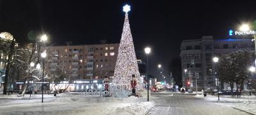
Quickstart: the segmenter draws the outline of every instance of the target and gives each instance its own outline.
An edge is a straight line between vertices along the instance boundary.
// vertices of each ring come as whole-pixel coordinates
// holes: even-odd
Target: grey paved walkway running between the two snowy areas
[[[156,102],[155,107],[148,112],[148,115],[244,115],[243,111],[238,111],[225,104],[209,102],[194,95],[184,93],[152,93],[152,100]]]

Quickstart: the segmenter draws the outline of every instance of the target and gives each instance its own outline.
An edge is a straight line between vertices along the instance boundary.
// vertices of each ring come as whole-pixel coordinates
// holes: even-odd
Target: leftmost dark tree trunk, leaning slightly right
[[[15,46],[15,39],[13,38],[12,44],[10,45],[10,52],[8,54],[8,60],[7,60],[6,70],[5,70],[3,95],[7,95],[8,77],[9,77],[9,70],[10,70],[10,67],[11,67],[10,61],[11,61],[12,56],[13,56],[14,46]]]

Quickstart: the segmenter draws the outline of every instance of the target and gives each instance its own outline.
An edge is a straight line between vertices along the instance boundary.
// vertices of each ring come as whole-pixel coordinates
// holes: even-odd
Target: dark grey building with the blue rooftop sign
[[[254,50],[251,39],[220,39],[212,36],[203,36],[201,39],[183,40],[180,47],[182,64],[182,84],[184,88],[195,91],[196,77],[198,90],[216,89],[217,79],[212,57],[236,50]]]

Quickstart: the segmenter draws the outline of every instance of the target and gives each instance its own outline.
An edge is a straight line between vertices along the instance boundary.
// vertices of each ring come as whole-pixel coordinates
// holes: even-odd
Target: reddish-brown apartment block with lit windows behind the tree
[[[113,77],[119,43],[99,45],[65,45],[47,48],[45,70],[65,73],[67,81]]]

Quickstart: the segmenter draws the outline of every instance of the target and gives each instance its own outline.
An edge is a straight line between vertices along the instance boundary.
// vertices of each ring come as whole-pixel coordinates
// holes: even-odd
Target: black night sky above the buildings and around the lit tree
[[[119,43],[124,24],[122,6],[131,5],[129,20],[138,59],[152,47],[150,73],[157,64],[168,65],[179,57],[182,40],[214,36],[227,38],[229,29],[256,19],[256,1],[0,1],[0,31],[24,43],[29,31],[49,34],[51,43],[95,44],[106,39]]]

